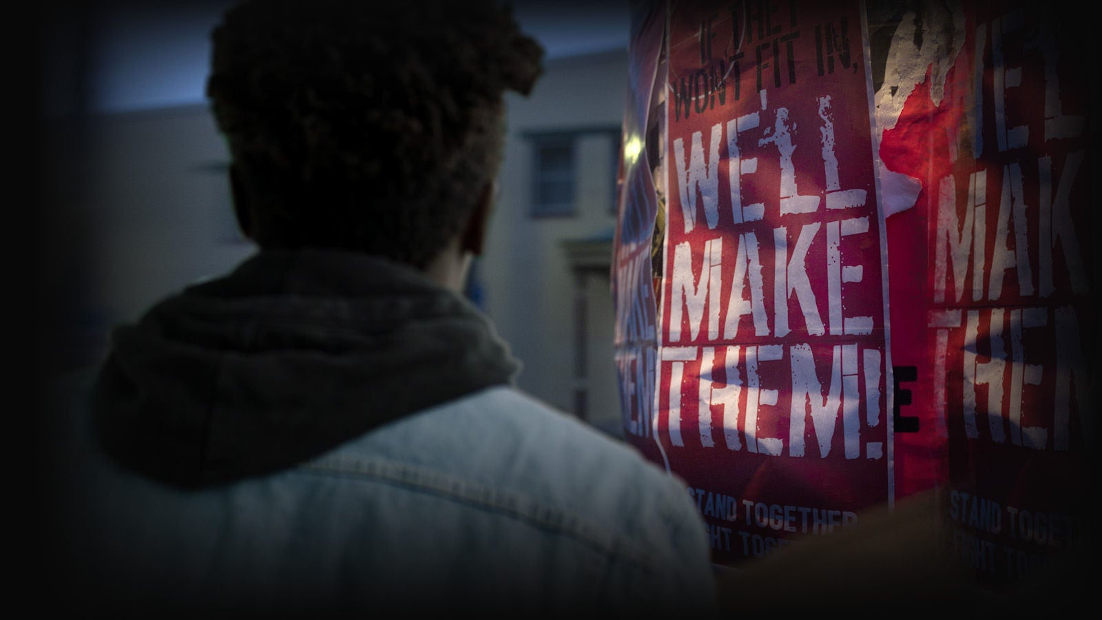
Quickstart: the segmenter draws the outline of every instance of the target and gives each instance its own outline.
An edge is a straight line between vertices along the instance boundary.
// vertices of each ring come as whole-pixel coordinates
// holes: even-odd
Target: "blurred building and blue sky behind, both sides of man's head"
[[[25,52],[37,63],[47,373],[95,364],[111,327],[256,250],[237,229],[203,94],[208,35],[230,3],[41,10]],[[507,100],[500,199],[468,295],[522,362],[520,387],[619,436],[609,263],[630,11],[627,0],[512,4],[545,47],[545,73]]]

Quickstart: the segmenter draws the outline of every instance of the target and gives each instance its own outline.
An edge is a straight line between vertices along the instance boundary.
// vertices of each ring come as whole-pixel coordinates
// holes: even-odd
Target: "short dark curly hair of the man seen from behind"
[[[497,174],[504,93],[528,95],[543,57],[494,0],[245,0],[212,40],[252,239],[419,268]]]

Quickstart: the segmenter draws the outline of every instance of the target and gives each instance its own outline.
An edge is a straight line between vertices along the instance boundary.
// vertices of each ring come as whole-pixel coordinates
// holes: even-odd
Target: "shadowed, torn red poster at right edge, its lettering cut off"
[[[904,449],[941,459],[905,480],[947,481],[961,560],[1005,585],[1093,537],[1098,68],[1066,7],[916,17],[888,30],[877,100],[885,174],[920,188],[887,218],[893,357],[920,426]]]

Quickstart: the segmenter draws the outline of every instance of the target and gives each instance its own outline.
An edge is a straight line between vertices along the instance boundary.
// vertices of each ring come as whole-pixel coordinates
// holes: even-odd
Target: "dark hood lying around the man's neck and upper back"
[[[518,370],[484,314],[411,267],[261,252],[115,329],[95,425],[125,467],[206,487],[293,467]]]

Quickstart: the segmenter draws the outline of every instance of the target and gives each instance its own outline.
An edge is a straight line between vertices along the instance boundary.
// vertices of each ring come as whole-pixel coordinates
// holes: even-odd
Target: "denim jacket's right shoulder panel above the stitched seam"
[[[684,487],[638,450],[514,387],[420,411],[336,450],[447,472],[474,484],[622,523],[680,516]]]

